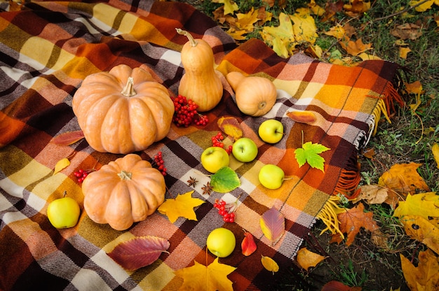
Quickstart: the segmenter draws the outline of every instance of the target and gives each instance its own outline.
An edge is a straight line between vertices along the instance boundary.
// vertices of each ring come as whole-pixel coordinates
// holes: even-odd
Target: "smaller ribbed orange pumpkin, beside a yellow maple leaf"
[[[83,180],[84,209],[91,220],[128,229],[165,200],[165,178],[139,155],[128,154],[91,172]]]

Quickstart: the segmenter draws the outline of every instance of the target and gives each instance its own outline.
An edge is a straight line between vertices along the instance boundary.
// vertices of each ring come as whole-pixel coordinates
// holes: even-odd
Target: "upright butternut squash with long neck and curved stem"
[[[213,52],[202,39],[194,39],[189,32],[177,29],[178,34],[187,36],[189,41],[182,48],[184,75],[178,86],[178,94],[191,99],[197,111],[210,111],[222,98],[221,73],[214,69]]]

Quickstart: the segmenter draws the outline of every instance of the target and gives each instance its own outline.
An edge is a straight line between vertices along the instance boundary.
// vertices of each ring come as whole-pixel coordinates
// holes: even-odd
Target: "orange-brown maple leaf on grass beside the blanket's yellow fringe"
[[[364,205],[362,203],[337,215],[340,231],[343,234],[348,234],[346,246],[350,246],[351,243],[353,243],[353,240],[358,232],[360,232],[361,227],[364,227],[370,232],[379,229],[377,222],[373,220],[372,216],[372,212],[364,212]],[[340,243],[341,241],[342,237],[340,234],[333,234],[330,242]]]

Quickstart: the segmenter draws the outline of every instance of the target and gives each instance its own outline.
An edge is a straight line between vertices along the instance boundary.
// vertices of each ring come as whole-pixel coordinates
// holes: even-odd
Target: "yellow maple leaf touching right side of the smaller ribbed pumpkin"
[[[178,194],[175,199],[166,199],[166,201],[158,207],[158,212],[167,215],[169,221],[173,223],[179,217],[197,220],[194,207],[200,206],[204,201],[198,198],[192,198],[192,193],[194,193],[194,190],[184,194]]]

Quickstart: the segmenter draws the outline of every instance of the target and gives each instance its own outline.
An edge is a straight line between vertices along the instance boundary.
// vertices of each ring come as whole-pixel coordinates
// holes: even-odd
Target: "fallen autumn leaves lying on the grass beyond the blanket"
[[[423,13],[439,5],[437,0],[410,1],[408,6],[401,7],[391,15],[385,15],[378,20],[364,20],[361,27],[353,27],[351,20],[361,17],[367,19],[365,15],[374,5],[374,1],[327,1],[319,2],[319,5],[311,0],[302,7],[295,8],[294,13],[285,13],[283,10],[288,5],[287,1],[263,0],[261,6],[251,6],[243,10],[244,2],[212,0],[212,3],[223,4],[212,11],[212,17],[237,43],[257,37],[281,57],[304,52],[316,59],[344,66],[356,66],[367,59],[380,59],[374,53],[374,44],[363,42],[358,30],[364,29],[373,21],[388,20],[391,23],[396,16],[408,19],[416,13]],[[277,15],[270,9],[273,6],[280,8]],[[343,21],[335,17],[340,14],[344,15]],[[319,30],[316,22],[327,24],[327,29]],[[433,22],[439,26],[438,13],[433,15]],[[422,23],[404,23],[391,28],[391,35],[395,38],[392,49],[398,50],[400,59],[407,59],[412,52],[410,41],[416,41],[421,37],[423,29]],[[324,43],[322,40],[327,38],[332,38],[329,48],[320,45]],[[428,106],[428,101],[426,104],[421,101],[421,95],[425,93],[422,83],[414,80],[412,83],[405,82],[402,87],[403,94],[412,97],[407,108],[410,108],[412,115],[419,116],[419,113],[425,111],[425,106]],[[435,97],[431,95],[430,98]],[[386,118],[391,122],[391,117]],[[417,142],[423,136],[435,134],[438,125],[426,128],[421,122],[420,127],[422,134]],[[429,155],[435,160],[436,165],[433,166],[439,167],[437,142],[431,144]],[[374,148],[367,149],[364,158],[370,159],[373,163]],[[374,213],[365,210],[365,206],[368,205],[386,204],[394,209],[393,217],[399,218],[407,236],[424,246],[424,250],[419,251],[417,265],[413,263],[414,257],[400,255],[407,286],[410,290],[439,290],[439,196],[431,192],[424,179],[419,176],[419,166],[421,164],[414,162],[396,163],[379,177],[377,183],[360,186],[358,196],[354,199],[348,201],[346,197],[333,197],[333,207],[326,209],[327,215],[321,217],[326,219],[327,225],[323,232],[332,233],[330,243],[344,242],[346,246],[350,246],[360,231],[367,231],[370,232],[373,243],[386,249],[386,234],[381,232],[379,223],[374,220]],[[310,267],[316,267],[323,260],[325,257],[306,248],[299,250],[297,255],[297,262],[306,271]],[[336,281],[331,281],[326,286],[327,290],[353,290],[349,289],[351,287],[355,286],[348,287]]]

